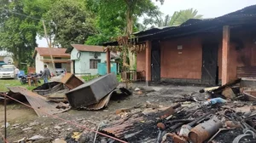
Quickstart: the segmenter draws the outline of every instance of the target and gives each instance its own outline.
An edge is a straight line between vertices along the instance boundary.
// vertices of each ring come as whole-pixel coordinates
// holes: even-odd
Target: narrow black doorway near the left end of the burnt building
[[[151,48],[151,81],[160,82],[160,42],[153,41]]]

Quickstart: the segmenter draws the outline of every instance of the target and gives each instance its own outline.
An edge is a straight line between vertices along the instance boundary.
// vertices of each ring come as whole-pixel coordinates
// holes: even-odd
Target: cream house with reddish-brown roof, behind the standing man
[[[67,49],[56,48],[36,48],[34,50],[33,59],[35,60],[36,72],[44,71],[44,65],[47,65],[50,72],[53,72],[52,60],[53,57],[55,68],[64,68],[70,72],[70,54],[65,53]]]

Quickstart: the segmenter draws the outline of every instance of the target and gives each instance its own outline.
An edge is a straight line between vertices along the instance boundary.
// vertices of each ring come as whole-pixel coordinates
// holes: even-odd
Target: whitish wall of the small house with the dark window
[[[83,74],[90,74],[90,75],[96,75],[98,73],[97,69],[90,69],[90,59],[95,59],[93,55],[90,55],[90,53],[94,52],[81,52],[81,56],[78,59],[77,49],[73,49],[71,51],[71,60],[75,60],[75,74],[77,75],[83,75]],[[101,60],[101,62],[106,61],[106,53],[101,53],[100,56],[98,56],[97,60]],[[73,68],[73,67],[72,67]]]

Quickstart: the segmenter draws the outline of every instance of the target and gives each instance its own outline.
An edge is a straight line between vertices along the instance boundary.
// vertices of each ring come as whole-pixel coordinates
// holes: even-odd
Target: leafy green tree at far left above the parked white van
[[[1,0],[0,47],[14,54],[15,61],[32,63],[32,51],[37,46],[37,26],[40,16],[27,16],[26,0]]]

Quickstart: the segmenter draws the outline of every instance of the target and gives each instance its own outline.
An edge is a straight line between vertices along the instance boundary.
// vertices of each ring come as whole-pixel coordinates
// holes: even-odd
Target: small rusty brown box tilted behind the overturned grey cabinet
[[[61,83],[64,83],[68,89],[75,89],[82,85],[82,82],[78,77],[74,76],[72,73],[66,73],[61,79]]]

